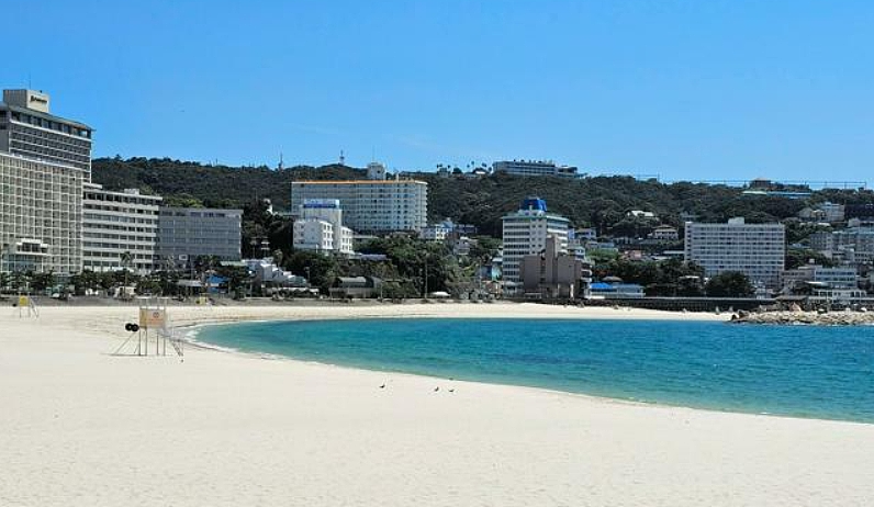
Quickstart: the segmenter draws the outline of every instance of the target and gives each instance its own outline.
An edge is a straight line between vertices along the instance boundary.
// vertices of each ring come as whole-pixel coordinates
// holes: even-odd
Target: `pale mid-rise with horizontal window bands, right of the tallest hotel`
[[[158,207],[161,198],[136,189],[123,192],[86,183],[82,269],[146,274],[156,269]],[[126,256],[130,255],[130,260]]]

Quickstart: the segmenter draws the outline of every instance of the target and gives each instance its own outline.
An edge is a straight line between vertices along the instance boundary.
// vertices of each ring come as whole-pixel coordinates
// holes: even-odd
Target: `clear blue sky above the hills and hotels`
[[[96,155],[874,183],[874,2],[5,0]]]

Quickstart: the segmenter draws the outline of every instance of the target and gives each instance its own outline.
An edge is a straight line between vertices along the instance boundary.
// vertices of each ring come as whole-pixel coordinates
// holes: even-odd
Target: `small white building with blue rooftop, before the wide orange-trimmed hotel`
[[[307,199],[294,222],[294,248],[352,254],[352,229],[343,225],[343,209],[336,199]]]

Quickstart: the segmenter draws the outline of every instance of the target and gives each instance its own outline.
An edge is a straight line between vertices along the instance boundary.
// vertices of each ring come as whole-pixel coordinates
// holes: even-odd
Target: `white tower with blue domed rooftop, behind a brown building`
[[[502,218],[504,238],[504,281],[522,282],[519,266],[525,256],[540,254],[546,249],[547,237],[554,236],[559,251],[568,251],[568,226],[563,216],[547,213],[546,201],[528,198],[522,207]]]

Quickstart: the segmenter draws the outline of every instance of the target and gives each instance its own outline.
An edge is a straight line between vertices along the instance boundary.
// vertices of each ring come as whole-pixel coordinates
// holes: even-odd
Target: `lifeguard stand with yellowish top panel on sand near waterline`
[[[149,342],[154,343],[154,356],[167,356],[168,341],[178,356],[183,356],[183,341],[176,336],[176,329],[170,324],[167,301],[167,297],[144,300],[139,305],[139,323],[128,323],[125,326],[131,336],[119,346],[113,356],[148,356]],[[136,339],[133,341],[131,352],[125,353],[127,343],[134,338]]]

